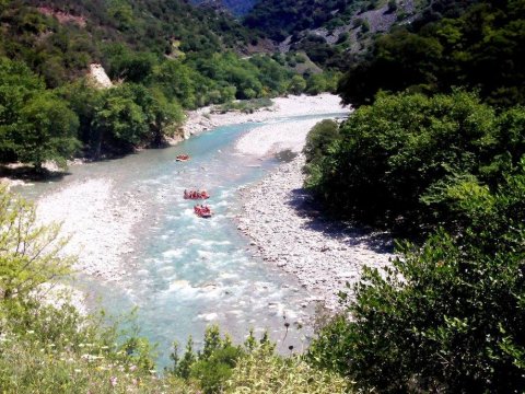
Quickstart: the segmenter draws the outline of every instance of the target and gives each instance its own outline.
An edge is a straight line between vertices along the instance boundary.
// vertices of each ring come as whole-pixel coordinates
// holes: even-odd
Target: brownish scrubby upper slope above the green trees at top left
[[[237,22],[184,0],[19,0],[0,5],[0,55],[25,61],[57,86],[128,48],[155,56],[244,51]]]

